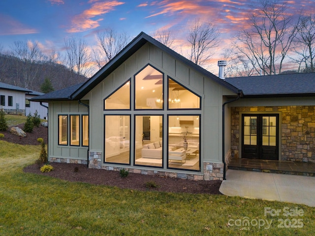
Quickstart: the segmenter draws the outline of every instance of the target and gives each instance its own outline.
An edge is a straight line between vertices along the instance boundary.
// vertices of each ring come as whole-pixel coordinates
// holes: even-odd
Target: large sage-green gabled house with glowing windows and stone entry
[[[142,32],[84,84],[32,101],[49,103],[51,162],[223,179],[233,156],[313,162],[309,76],[307,92],[277,90],[277,76],[225,81]]]

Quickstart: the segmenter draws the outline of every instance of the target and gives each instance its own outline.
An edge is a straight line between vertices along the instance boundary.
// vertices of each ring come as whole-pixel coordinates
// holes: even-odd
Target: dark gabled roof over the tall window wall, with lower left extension
[[[106,76],[112,73],[116,68],[118,68],[126,59],[128,59],[132,54],[134,54],[137,50],[139,50],[144,44],[147,42],[152,43],[160,50],[167,52],[172,57],[177,60],[180,60],[182,63],[188,65],[192,69],[198,71],[203,74],[205,77],[211,78],[218,84],[222,85],[226,89],[231,90],[237,94],[239,90],[234,86],[226,83],[221,80],[219,77],[210,73],[209,71],[203,69],[202,67],[196,65],[192,61],[184,58],[180,54],[161,44],[151,36],[147,35],[144,32],[141,32],[137,37],[135,37],[119,54],[117,54],[113,59],[111,59],[104,67],[102,67],[94,76],[92,76],[88,81],[86,81],[83,85],[76,87],[69,87],[66,89],[62,89],[62,91],[55,91],[52,93],[45,94],[40,97],[36,97],[33,100],[78,100],[81,99],[85,94],[87,94],[91,89],[93,89],[97,84],[99,84]]]

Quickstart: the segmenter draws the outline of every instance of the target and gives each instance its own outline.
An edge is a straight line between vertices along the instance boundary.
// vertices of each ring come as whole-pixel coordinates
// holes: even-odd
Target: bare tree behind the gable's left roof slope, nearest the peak
[[[96,36],[98,47],[93,50],[93,54],[94,61],[99,69],[122,51],[130,39],[127,33],[118,33],[112,28],[98,31]]]

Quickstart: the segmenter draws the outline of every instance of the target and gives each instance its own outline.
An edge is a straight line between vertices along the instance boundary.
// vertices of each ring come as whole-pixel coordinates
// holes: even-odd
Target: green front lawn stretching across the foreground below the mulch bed
[[[33,163],[39,152],[40,146],[0,141],[1,236],[295,236],[315,232],[315,207],[223,195],[139,192],[24,173],[23,167]],[[264,207],[282,212],[265,216]],[[303,216],[284,216],[284,207],[303,211]],[[238,226],[246,220],[250,226]]]

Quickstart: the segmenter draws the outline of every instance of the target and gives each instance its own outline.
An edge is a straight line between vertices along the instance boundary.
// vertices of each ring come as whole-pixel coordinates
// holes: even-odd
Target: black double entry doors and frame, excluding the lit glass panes
[[[276,146],[263,146],[263,123],[262,117],[271,116],[276,117]],[[243,113],[241,114],[241,150],[242,158],[252,158],[252,159],[270,159],[279,160],[279,113]],[[257,117],[257,129],[256,129],[256,145],[244,145],[244,117]],[[250,127],[251,129],[251,127]]]

